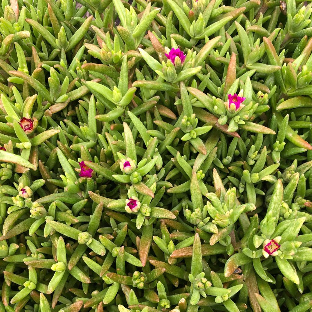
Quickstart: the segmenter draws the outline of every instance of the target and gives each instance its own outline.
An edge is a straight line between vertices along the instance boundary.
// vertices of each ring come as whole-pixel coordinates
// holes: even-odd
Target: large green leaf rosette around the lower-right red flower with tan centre
[[[264,263],[271,266],[272,261],[269,260],[272,257],[287,279],[295,284],[300,283],[294,263],[306,261],[304,259],[309,259],[311,253],[310,248],[301,246],[305,235],[298,236],[305,218],[298,218],[294,214],[289,220],[279,222],[282,201],[283,187],[278,180],[266,216],[260,222],[260,232],[257,231],[258,216],[255,215],[245,236],[238,243],[242,253],[229,258],[225,276],[232,274],[238,266],[252,262],[257,275],[267,282],[275,283],[274,277],[264,269]]]

